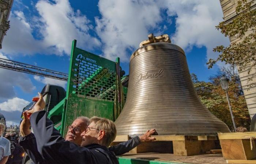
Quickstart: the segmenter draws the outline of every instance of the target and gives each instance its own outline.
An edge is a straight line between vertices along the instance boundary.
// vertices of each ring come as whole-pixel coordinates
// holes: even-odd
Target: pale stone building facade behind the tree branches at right
[[[238,0],[220,0],[221,7],[223,11],[223,19],[225,24],[229,24],[232,20],[238,15],[236,13],[236,6]],[[248,0],[253,1],[251,9],[256,9],[256,0]],[[247,32],[246,35],[250,33]],[[230,43],[239,43],[241,42],[240,38],[236,36],[229,38]],[[248,75],[248,69],[244,69],[243,71],[239,72],[239,77],[241,80],[242,88],[244,90],[245,100],[247,104],[247,108],[249,110],[249,114],[251,118],[256,113],[256,68],[253,67],[251,73]],[[248,78],[252,78],[252,81],[249,81]],[[250,89],[248,90],[248,85],[251,85]]]

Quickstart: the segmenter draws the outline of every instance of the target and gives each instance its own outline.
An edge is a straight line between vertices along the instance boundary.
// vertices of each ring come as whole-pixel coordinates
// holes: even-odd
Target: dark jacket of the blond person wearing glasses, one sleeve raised
[[[35,160],[36,163],[118,164],[115,154],[105,146],[91,144],[80,147],[65,141],[59,131],[53,127],[53,122],[46,117],[45,111],[33,113],[30,122],[36,138],[38,156],[41,156],[41,159]]]

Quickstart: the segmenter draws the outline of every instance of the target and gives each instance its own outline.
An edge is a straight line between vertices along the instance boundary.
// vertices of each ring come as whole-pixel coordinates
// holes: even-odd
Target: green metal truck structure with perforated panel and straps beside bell
[[[55,128],[65,136],[65,127],[79,116],[98,116],[116,120],[123,108],[127,88],[120,77],[120,61],[94,55],[72,43],[66,97],[48,113],[48,118],[62,116],[54,121]],[[124,94],[123,94],[124,93]]]

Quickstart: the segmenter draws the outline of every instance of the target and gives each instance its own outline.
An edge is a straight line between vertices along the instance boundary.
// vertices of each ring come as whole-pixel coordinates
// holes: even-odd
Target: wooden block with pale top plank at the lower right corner
[[[256,132],[218,133],[222,154],[227,160],[256,158]]]

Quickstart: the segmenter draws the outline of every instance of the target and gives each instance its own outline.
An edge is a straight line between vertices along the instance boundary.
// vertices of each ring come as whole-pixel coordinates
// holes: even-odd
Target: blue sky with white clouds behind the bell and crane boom
[[[129,72],[129,57],[147,35],[168,34],[185,50],[190,73],[208,81],[222,63],[208,69],[218,54],[215,46],[228,45],[215,26],[222,21],[219,0],[15,0],[11,28],[3,40],[1,58],[68,73],[71,43],[110,60],[120,57]],[[19,123],[24,106],[55,79],[0,69],[0,113],[7,125]]]

